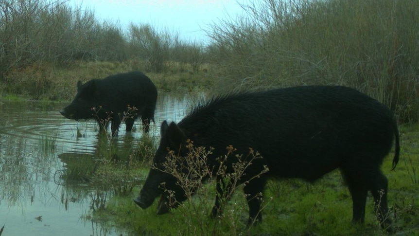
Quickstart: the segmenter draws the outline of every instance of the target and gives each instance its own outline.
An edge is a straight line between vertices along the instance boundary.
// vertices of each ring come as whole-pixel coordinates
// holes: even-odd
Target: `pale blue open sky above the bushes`
[[[127,26],[130,22],[150,23],[158,29],[178,32],[184,40],[207,41],[202,29],[220,19],[243,13],[238,2],[246,0],[70,0],[88,7],[98,18]]]

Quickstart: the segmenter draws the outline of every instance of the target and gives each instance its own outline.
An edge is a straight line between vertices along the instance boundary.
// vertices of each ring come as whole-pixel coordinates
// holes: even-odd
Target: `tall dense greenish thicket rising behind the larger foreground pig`
[[[214,23],[209,54],[220,87],[309,84],[357,88],[419,120],[419,2],[262,0]]]

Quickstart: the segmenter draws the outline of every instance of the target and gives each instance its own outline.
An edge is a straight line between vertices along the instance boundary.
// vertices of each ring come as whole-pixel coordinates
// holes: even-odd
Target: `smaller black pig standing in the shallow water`
[[[76,97],[60,113],[73,120],[96,119],[100,131],[105,131],[111,121],[113,136],[118,135],[122,120],[126,131],[131,131],[134,120],[141,116],[144,132],[148,132],[156,101],[156,86],[145,74],[120,73],[85,84],[78,81]]]

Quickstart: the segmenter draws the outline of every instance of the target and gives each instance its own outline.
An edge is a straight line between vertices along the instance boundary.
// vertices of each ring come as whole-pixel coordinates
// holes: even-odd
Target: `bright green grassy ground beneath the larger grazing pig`
[[[389,180],[388,204],[397,235],[418,235],[419,127],[403,126],[400,133],[401,162],[390,171],[389,160],[393,155],[390,153],[382,170]],[[141,182],[147,172],[147,166],[139,165],[131,169],[130,175],[131,178],[140,177]],[[297,179],[270,180],[263,193],[263,222],[250,229],[245,227],[248,207],[240,187],[228,202],[224,216],[218,219],[210,218],[215,199],[212,180],[191,200],[166,215],[156,215],[157,200],[146,210],[135,205],[132,198],[139,190],[140,185],[128,196],[111,197],[93,218],[108,217],[112,224],[132,235],[387,235],[375,217],[370,195],[365,224],[351,223],[352,201],[339,171],[333,171],[314,184]]]

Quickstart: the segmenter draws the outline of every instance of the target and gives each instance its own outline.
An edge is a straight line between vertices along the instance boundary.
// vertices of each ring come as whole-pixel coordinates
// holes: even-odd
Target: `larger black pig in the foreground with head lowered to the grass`
[[[157,214],[169,210],[168,193],[178,202],[186,200],[185,191],[173,175],[165,173],[168,149],[175,156],[186,156],[187,140],[194,146],[213,147],[208,164],[216,166],[226,147],[246,156],[249,147],[260,153],[241,179],[249,205],[249,223],[261,221],[261,201],[266,180],[271,177],[300,178],[309,182],[339,168],[353,201],[353,221],[363,222],[367,192],[375,200],[377,217],[389,227],[387,179],[380,170],[395,139],[393,168],[399,161],[399,131],[393,113],[383,104],[351,88],[341,86],[302,86],[271,91],[218,97],[195,108],[177,125],[164,121],[161,140],[148,177],[134,201],[149,207],[161,195]],[[232,162],[227,159],[227,171]],[[269,171],[260,178],[249,177]],[[217,169],[215,167],[214,169]],[[223,178],[217,176],[217,195],[211,215],[221,214]],[[164,183],[164,187],[162,187]],[[164,191],[172,190],[172,191]],[[224,189],[224,190],[223,190]]]

